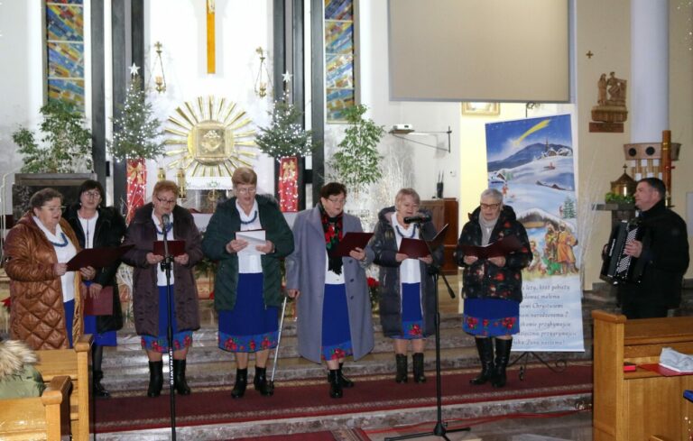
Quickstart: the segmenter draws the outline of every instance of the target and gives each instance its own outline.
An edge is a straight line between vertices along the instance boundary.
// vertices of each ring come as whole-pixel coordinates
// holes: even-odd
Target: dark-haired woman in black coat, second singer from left
[[[81,248],[101,248],[118,246],[125,235],[125,219],[114,207],[105,206],[104,188],[97,180],[86,180],[79,186],[79,201],[65,211],[64,217],[77,235]],[[115,331],[123,327],[123,312],[118,296],[115,272],[120,262],[113,262],[106,268],[97,269],[94,280],[87,281],[88,296],[97,299],[101,290],[108,288],[112,297],[113,314],[110,316],[84,315],[84,333],[94,335],[91,351],[94,395],[109,397],[101,379],[101,361],[104,346],[115,346]],[[106,292],[106,291],[105,291]]]

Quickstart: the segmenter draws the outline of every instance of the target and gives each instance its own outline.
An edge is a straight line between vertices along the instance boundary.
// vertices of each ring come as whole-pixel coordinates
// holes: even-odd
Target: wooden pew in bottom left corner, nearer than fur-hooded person
[[[56,376],[41,397],[0,400],[0,439],[69,439],[70,386],[68,376]]]

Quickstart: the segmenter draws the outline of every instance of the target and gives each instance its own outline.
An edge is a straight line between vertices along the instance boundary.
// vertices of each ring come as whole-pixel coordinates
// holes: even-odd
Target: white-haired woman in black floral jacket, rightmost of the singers
[[[506,255],[480,259],[465,254],[463,249],[463,245],[485,246],[511,235],[519,240],[520,246]],[[513,335],[520,332],[522,268],[532,259],[527,232],[517,221],[513,208],[503,205],[503,193],[494,188],[481,193],[481,204],[462,228],[455,255],[457,264],[463,268],[462,326],[476,337],[481,360],[481,373],[470,382],[491,381],[494,387],[502,388]]]

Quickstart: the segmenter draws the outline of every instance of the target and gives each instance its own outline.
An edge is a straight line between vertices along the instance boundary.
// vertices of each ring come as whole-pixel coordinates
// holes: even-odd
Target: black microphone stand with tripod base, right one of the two
[[[421,229],[421,238],[423,238],[423,226],[421,225],[422,222],[421,220],[417,221],[417,224],[420,226]],[[429,250],[429,254],[431,257],[433,257],[433,250],[430,248],[430,242],[427,241],[426,239],[422,239],[423,243],[426,243],[426,248]],[[442,262],[441,262],[442,264]],[[443,271],[440,270],[440,265],[436,264],[435,259],[433,262],[430,264],[429,271],[433,275],[433,286],[435,287],[435,292],[436,292],[436,316],[435,316],[435,330],[436,330],[436,335],[435,335],[435,342],[436,342],[436,426],[433,427],[433,430],[431,432],[422,432],[418,434],[412,434],[412,435],[403,435],[403,436],[394,436],[394,437],[386,437],[385,441],[394,441],[395,439],[410,439],[410,438],[419,438],[422,436],[440,436],[443,439],[446,439],[450,441],[450,438],[446,436],[447,433],[453,433],[453,432],[463,432],[463,431],[469,431],[471,430],[471,427],[458,427],[455,429],[448,430],[448,423],[443,421],[443,403],[442,403],[442,390],[440,387],[440,308],[439,308],[439,293],[438,293],[438,278],[442,277],[443,281],[445,282],[445,286],[448,287],[448,294],[450,295],[450,299],[455,299],[455,291],[452,290],[450,287],[450,284],[448,282],[448,278],[445,277],[445,274]],[[421,293],[423,296],[424,294]]]

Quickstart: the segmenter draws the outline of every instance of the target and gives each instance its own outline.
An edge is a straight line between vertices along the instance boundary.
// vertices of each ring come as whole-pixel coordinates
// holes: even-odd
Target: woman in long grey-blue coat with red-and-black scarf
[[[374,345],[365,280],[373,253],[361,248],[348,257],[335,253],[345,234],[363,231],[358,217],[344,213],[346,201],[344,185],[320,188],[319,204],[296,216],[296,251],[286,260],[287,294],[298,302],[299,353],[327,363],[331,398],[342,398],[343,388],[354,386],[342,373],[345,357],[358,360]]]

